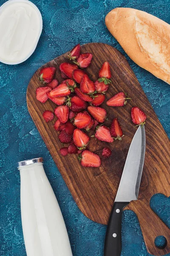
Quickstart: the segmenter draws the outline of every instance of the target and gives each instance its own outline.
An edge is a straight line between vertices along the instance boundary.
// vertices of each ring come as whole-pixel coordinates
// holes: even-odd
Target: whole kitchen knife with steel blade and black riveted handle
[[[137,200],[145,154],[144,125],[139,126],[127,154],[119,188],[108,222],[104,256],[120,256],[122,250],[121,226],[123,208]]]

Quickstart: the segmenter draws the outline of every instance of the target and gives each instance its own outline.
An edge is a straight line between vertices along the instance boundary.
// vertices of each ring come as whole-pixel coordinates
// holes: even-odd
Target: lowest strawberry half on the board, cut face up
[[[89,150],[84,150],[79,159],[81,165],[85,167],[99,167],[101,165],[100,157]]]

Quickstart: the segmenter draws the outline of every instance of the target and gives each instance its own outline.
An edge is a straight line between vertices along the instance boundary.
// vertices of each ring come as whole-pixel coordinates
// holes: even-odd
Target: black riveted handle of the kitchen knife
[[[104,256],[120,256],[122,250],[122,212],[129,202],[115,202],[105,236]]]

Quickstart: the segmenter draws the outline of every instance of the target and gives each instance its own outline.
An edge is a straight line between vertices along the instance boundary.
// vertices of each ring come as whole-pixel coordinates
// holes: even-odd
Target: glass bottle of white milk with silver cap
[[[26,253],[27,256],[72,256],[64,219],[42,162],[40,157],[18,163]]]

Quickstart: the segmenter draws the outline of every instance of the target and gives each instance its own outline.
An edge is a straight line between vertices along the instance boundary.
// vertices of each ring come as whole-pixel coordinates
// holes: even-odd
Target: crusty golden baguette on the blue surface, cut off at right
[[[131,8],[113,9],[105,24],[127,55],[140,67],[170,84],[170,25]]]

